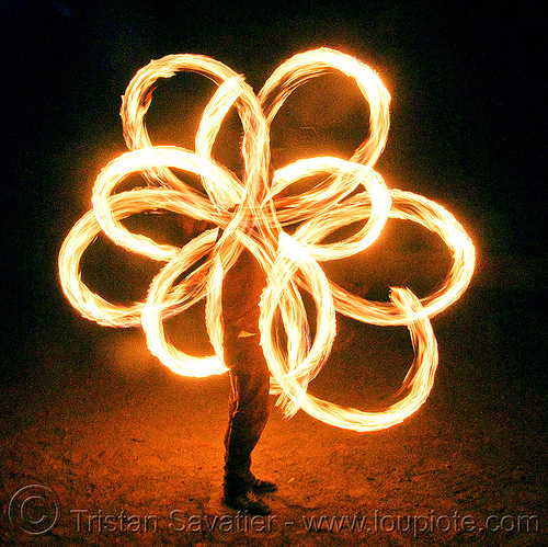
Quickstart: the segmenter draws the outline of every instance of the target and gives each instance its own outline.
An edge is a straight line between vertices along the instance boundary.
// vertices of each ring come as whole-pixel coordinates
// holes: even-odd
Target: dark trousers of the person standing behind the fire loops
[[[230,407],[225,436],[225,471],[244,475],[269,419],[270,372],[259,344],[260,337],[226,333],[225,364],[230,374]]]

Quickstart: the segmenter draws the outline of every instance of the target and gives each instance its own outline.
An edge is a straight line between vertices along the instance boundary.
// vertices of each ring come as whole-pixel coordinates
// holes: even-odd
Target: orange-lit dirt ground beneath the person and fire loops
[[[534,297],[472,287],[436,318],[433,392],[392,429],[358,434],[304,412],[286,420],[273,398],[253,467],[279,490],[270,520],[255,521],[221,501],[228,378],[172,374],[138,331],[59,323],[27,349],[28,374],[3,385],[0,539],[546,545],[546,380],[539,347],[529,345],[541,328]],[[501,307],[509,301],[518,329]],[[381,404],[409,366],[409,346],[404,328],[340,319],[310,390],[362,409]],[[31,485],[50,490],[19,492]],[[41,531],[55,509],[49,532],[21,529],[36,521],[31,531]]]

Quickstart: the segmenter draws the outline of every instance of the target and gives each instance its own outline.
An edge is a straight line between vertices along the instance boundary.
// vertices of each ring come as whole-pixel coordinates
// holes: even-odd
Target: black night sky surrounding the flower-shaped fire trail
[[[475,311],[473,338],[484,344],[472,354],[498,355],[486,360],[496,369],[484,377],[544,408],[547,13],[540,1],[282,9],[4,0],[2,389],[24,389],[52,366],[44,355],[55,347],[82,355],[105,335],[64,298],[57,254],[90,207],[100,169],[124,151],[119,96],[134,73],[167,54],[197,53],[259,91],[293,54],[329,46],[376,68],[392,95],[377,163],[388,185],[446,205],[477,243],[465,301]]]

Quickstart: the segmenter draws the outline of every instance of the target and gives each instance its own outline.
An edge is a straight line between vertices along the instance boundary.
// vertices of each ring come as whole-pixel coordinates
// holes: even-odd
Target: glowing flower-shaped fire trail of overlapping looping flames
[[[153,146],[145,125],[155,82],[178,71],[203,75],[217,84],[195,137],[195,151]],[[270,125],[289,94],[310,78],[340,71],[355,80],[369,104],[369,136],[353,157],[319,157],[295,161],[269,176]],[[186,376],[226,372],[222,364],[221,286],[224,272],[243,248],[267,276],[261,299],[261,345],[272,373],[271,392],[286,415],[299,408],[339,428],[373,431],[389,428],[415,412],[426,400],[437,367],[437,344],[430,318],[455,303],[467,288],[475,267],[475,249],[454,216],[411,192],[388,190],[373,169],[388,135],[390,95],[366,65],[340,52],[320,48],[295,55],[281,65],[255,95],[243,78],[224,64],[199,55],[170,55],[152,60],[130,81],[122,103],[124,136],[130,151],[111,161],[96,179],[93,209],[71,229],[59,253],[64,292],[82,316],[100,324],[142,324],[147,343],[164,365]],[[241,180],[212,159],[212,149],[229,109],[235,105],[243,128]],[[174,169],[198,175],[206,193],[175,175]],[[115,193],[129,174],[142,173],[148,187]],[[300,195],[283,195],[295,182],[322,175],[321,183]],[[121,220],[141,212],[169,210],[217,228],[182,248],[159,244],[128,231]],[[388,218],[411,220],[439,236],[453,265],[434,294],[419,299],[408,288],[391,288],[390,303],[350,294],[327,278],[322,261],[351,257],[370,246]],[[362,221],[353,236],[322,242],[339,228]],[[292,236],[284,227],[298,224]],[[218,237],[219,228],[222,235]],[[114,305],[90,290],[80,276],[80,260],[103,231],[114,243],[165,265],[153,278],[146,301]],[[279,233],[279,236],[277,236]],[[192,270],[198,260],[203,263]],[[191,270],[183,281],[181,274]],[[299,289],[317,308],[316,334]],[[183,353],[165,338],[163,320],[206,299],[206,327],[215,355]],[[365,323],[407,326],[414,360],[399,394],[402,398],[380,412],[346,409],[307,392],[326,363],[335,337],[335,311]],[[276,335],[281,318],[286,340]],[[284,346],[282,346],[284,345]]]

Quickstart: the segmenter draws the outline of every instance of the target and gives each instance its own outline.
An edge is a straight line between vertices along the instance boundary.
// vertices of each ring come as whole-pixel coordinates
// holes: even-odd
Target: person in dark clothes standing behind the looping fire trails
[[[180,219],[183,236],[192,239],[207,223]],[[222,231],[219,230],[218,239]],[[269,419],[270,371],[260,345],[261,294],[266,276],[248,249],[224,273],[224,362],[229,371],[229,420],[225,435],[225,503],[238,511],[265,515],[270,508],[262,494],[275,492],[274,482],[251,472],[251,453]]]

